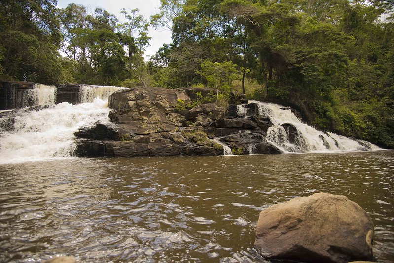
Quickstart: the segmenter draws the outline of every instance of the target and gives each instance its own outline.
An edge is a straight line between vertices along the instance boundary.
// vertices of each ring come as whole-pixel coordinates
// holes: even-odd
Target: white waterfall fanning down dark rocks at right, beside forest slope
[[[268,128],[266,140],[284,152],[337,152],[380,149],[366,141],[318,131],[301,122],[290,109],[286,109],[281,105],[260,101],[249,101],[249,103],[256,103],[259,114],[271,119],[274,126]],[[293,127],[292,129],[295,127],[296,129],[292,133],[293,138],[291,139],[289,127]]]

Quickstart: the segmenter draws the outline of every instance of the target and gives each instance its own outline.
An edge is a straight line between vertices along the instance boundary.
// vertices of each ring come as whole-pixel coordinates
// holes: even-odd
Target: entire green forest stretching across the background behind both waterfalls
[[[1,1],[1,80],[237,91],[394,148],[392,0],[161,0],[121,20],[56,5]],[[173,41],[146,61],[149,26]]]

